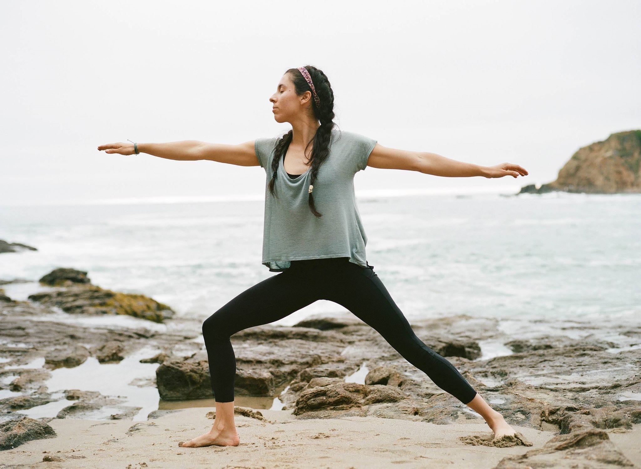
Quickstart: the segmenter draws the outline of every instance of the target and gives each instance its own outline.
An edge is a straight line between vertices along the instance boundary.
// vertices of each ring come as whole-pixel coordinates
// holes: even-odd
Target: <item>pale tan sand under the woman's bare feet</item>
[[[482,420],[436,425],[358,416],[296,419],[288,411],[261,410],[265,420],[236,416],[238,447],[178,447],[178,441],[210,429],[207,413],[206,407],[180,409],[133,425],[54,419],[49,424],[56,438],[4,451],[0,467],[490,468],[506,456],[541,448],[554,436],[518,427],[532,447],[472,446],[459,437],[489,436]],[[626,438],[633,435],[641,433],[629,432]],[[47,456],[61,460],[42,463]]]

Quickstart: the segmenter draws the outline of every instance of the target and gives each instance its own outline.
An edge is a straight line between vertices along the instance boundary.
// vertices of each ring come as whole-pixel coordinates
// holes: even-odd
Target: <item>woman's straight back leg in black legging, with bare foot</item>
[[[430,349],[414,333],[372,266],[348,263],[331,277],[327,299],[351,311],[376,329],[404,359],[427,374],[439,388],[478,412],[498,438],[513,434],[503,416],[476,393],[456,367]]]

